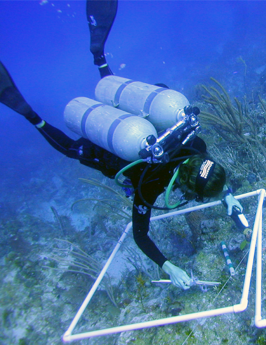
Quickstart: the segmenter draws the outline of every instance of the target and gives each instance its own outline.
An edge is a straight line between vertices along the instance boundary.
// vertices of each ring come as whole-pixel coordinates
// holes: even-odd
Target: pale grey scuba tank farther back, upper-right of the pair
[[[184,107],[189,105],[188,99],[178,91],[117,76],[107,76],[98,82],[95,99],[147,117],[157,132],[178,122],[184,116]]]

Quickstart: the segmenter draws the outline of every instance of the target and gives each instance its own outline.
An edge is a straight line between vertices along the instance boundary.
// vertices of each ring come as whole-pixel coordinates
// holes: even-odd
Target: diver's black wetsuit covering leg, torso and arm
[[[47,123],[38,130],[55,149],[67,157],[78,159],[80,163],[101,171],[109,178],[114,178],[119,170],[130,163],[93,144],[88,139],[80,138],[73,140],[59,129]],[[199,137],[195,137],[184,146],[175,158],[191,155],[190,147],[201,153],[206,152],[205,142]],[[165,187],[168,186],[173,176],[174,168],[183,161],[184,159],[177,160],[161,165],[160,167],[156,164],[147,170],[141,187],[141,193],[149,204],[153,205],[157,197],[164,192]],[[162,267],[167,258],[148,236],[151,208],[144,204],[137,191],[140,177],[146,166],[147,163],[144,162],[124,172],[124,175],[131,179],[135,189],[132,210],[133,236],[142,252]]]

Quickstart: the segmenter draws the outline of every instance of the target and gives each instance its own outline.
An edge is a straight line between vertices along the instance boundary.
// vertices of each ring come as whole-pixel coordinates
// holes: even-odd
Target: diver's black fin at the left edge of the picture
[[[32,110],[31,106],[25,101],[13,82],[7,69],[0,61],[0,102],[15,110],[20,115],[25,116],[32,124],[37,125],[41,118]]]

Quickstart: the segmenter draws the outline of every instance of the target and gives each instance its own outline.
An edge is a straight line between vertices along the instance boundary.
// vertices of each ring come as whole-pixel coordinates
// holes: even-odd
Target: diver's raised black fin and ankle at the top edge
[[[101,78],[113,75],[106,63],[104,45],[113,25],[117,11],[117,0],[87,0],[86,13],[91,34],[90,50],[94,65],[99,67]]]

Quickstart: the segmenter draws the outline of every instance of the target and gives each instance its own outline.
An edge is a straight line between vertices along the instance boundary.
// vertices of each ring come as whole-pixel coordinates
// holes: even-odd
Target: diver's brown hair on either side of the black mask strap
[[[178,176],[181,187],[185,185],[193,194],[196,194],[196,178],[206,157],[206,155],[194,155],[186,164],[181,164],[179,167]],[[203,197],[211,198],[218,196],[222,192],[225,183],[225,169],[216,163],[213,173],[203,189]]]

